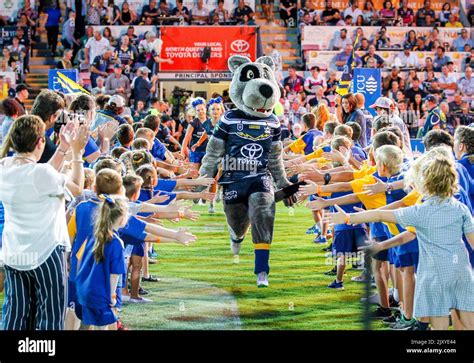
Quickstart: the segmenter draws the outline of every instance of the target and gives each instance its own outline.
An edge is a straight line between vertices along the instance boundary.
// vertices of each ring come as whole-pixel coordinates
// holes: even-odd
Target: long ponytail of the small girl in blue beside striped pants
[[[95,244],[92,248],[96,263],[104,260],[105,245],[112,240],[114,227],[128,210],[128,204],[123,198],[114,199],[107,194],[102,194],[101,198],[104,201],[99,206],[99,213],[94,226]]]

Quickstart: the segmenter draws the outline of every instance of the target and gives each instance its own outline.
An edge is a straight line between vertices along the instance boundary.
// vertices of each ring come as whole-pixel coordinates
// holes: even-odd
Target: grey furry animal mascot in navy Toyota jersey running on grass
[[[280,99],[275,64],[270,57],[252,62],[243,56],[228,61],[233,74],[230,98],[236,109],[218,121],[202,160],[201,175],[215,175],[222,159],[224,212],[230,232],[231,250],[240,252],[248,228],[252,227],[257,286],[268,286],[270,245],[275,221],[275,191],[289,187],[283,167],[280,122],[273,108]],[[285,204],[295,202],[284,196]]]

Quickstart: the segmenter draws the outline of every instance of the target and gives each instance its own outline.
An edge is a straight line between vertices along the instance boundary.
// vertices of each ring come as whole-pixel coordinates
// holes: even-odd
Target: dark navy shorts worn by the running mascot
[[[271,175],[257,175],[242,178],[239,181],[223,184],[222,200],[225,204],[247,203],[252,193],[274,193],[273,178]]]

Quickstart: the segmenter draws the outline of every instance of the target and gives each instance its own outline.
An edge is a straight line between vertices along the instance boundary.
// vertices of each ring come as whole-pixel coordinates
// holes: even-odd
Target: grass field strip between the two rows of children
[[[350,281],[360,271],[347,271],[345,290],[326,286],[323,275],[331,261],[321,245],[305,235],[311,214],[297,207],[290,216],[279,204],[270,257],[270,287],[258,289],[253,274],[250,235],[235,264],[218,204],[216,214],[201,211],[197,222],[181,222],[198,236],[189,247],[157,246],[158,264],[151,265],[158,283],[145,283],[153,303],[125,305],[121,317],[130,329],[362,329],[362,284]],[[3,296],[0,296],[2,300]]]

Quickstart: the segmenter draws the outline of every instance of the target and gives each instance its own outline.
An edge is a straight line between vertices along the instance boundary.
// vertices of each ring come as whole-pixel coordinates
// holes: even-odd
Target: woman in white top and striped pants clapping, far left
[[[5,208],[2,259],[5,265],[5,330],[60,330],[64,327],[69,248],[66,190],[84,184],[82,153],[87,126],[68,123],[60,149],[70,149],[69,176],[37,164],[45,146],[45,124],[25,115],[12,124],[0,152],[0,201]],[[13,157],[5,157],[13,149]]]

